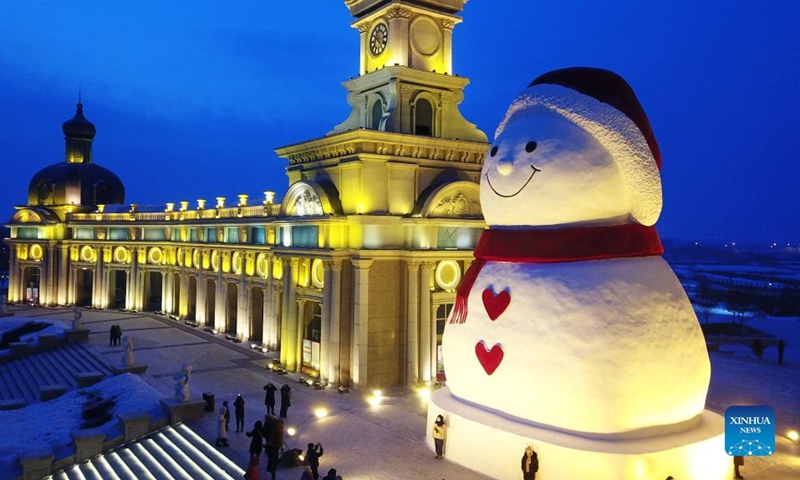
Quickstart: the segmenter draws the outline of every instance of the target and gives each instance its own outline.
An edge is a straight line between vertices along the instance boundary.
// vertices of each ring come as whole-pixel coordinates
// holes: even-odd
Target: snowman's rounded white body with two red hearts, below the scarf
[[[503,291],[510,301],[491,320]],[[703,411],[710,377],[703,334],[659,256],[487,262],[468,306],[442,346],[448,386],[462,400],[588,434],[675,428]],[[495,348],[494,356],[481,348]]]

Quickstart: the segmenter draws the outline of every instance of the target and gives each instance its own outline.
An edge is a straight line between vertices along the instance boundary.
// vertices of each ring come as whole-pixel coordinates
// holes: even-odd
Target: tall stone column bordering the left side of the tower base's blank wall
[[[350,372],[355,388],[367,386],[369,348],[369,267],[372,259],[353,259],[353,328]]]

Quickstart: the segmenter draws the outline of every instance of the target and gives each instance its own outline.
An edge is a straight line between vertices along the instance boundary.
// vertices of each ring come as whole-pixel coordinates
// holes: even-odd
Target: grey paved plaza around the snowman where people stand
[[[19,316],[43,317],[69,323],[71,309],[10,306]],[[121,347],[110,347],[108,330],[119,324],[123,334],[133,340],[137,364],[148,366],[144,379],[164,396],[174,393],[172,375],[183,363],[194,367],[191,397],[200,400],[202,393],[215,395],[217,409],[223,400],[231,403],[231,428],[234,428],[232,402],[236,394],[246,401],[245,428],[251,429],[263,419],[263,386],[272,381],[277,387],[292,387],[292,407],[286,427],[295,427],[295,437],[287,437],[291,448],[320,442],[325,453],[320,459],[320,473],[336,468],[345,480],[356,479],[486,479],[484,475],[435,460],[425,445],[426,406],[408,389],[384,391],[380,406],[367,404],[371,392],[352,391],[339,394],[335,389],[314,390],[298,382],[298,374],[278,375],[265,368],[276,352],[262,354],[249,344],[235,344],[223,335],[211,335],[202,328],[192,328],[165,316],[152,313],[84,310],[83,323],[91,330],[89,341],[111,362],[119,363]],[[800,366],[778,366],[774,361],[734,358],[725,354],[712,356],[712,384],[708,408],[724,412],[728,405],[771,405],[779,426],[777,453],[771,457],[746,460],[742,473],[748,480],[796,480],[800,478],[800,445],[781,434],[786,425],[800,430]],[[280,402],[278,402],[278,406]],[[313,410],[325,407],[329,415],[316,418]],[[205,413],[189,422],[195,431],[212,443],[216,438],[217,414]],[[248,459],[249,439],[231,431],[231,446],[221,451],[244,468]],[[480,441],[480,439],[476,439]],[[259,478],[265,478],[265,457],[261,457]],[[301,468],[279,468],[277,478],[297,480]],[[268,478],[268,476],[266,477]],[[556,479],[543,479],[556,480]],[[562,480],[562,479],[558,479]],[[564,479],[570,480],[570,479]],[[654,479],[662,480],[662,479]],[[687,480],[687,479],[676,479]],[[702,479],[696,479],[702,480]]]

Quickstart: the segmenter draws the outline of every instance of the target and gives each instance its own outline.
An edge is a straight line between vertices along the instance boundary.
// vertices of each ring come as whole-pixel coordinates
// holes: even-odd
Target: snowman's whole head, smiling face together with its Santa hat
[[[609,82],[611,98],[592,91]],[[638,122],[623,113],[631,98]],[[659,161],[644,111],[621,77],[551,72],[511,104],[497,129],[481,171],[483,214],[490,226],[653,225],[661,212]]]

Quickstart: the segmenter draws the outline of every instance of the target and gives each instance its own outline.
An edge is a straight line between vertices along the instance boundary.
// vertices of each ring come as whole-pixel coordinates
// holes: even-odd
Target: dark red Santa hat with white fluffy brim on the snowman
[[[573,67],[541,75],[506,112],[495,138],[520,118],[557,114],[595,137],[625,178],[631,217],[650,226],[661,214],[661,153],[636,94],[608,70]]]

